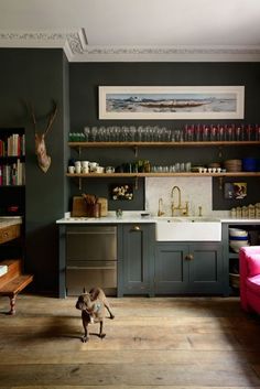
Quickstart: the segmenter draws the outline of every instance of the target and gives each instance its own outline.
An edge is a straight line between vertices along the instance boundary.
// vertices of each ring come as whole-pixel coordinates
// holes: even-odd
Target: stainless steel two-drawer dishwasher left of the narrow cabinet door
[[[66,292],[78,295],[100,287],[117,294],[117,227],[68,226],[66,230]]]

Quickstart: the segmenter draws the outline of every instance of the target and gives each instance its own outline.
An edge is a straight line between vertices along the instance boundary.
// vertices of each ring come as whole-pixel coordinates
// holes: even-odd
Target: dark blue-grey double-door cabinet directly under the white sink
[[[228,294],[221,244],[160,242],[155,249],[155,294]]]

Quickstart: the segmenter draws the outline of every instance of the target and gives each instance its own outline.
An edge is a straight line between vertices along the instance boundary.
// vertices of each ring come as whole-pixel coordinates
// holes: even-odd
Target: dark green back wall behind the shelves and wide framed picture
[[[259,122],[259,91],[260,65],[259,63],[72,63],[69,64],[71,80],[71,131],[83,131],[85,126],[129,126],[129,125],[159,125],[180,129],[185,123],[196,122],[229,122],[230,120],[184,121],[184,120],[98,120],[98,86],[245,86],[245,120],[237,122]],[[236,120],[231,120],[236,122]],[[138,159],[148,159],[152,164],[172,164],[176,161],[193,164],[220,162],[230,158],[259,156],[259,149],[225,148],[216,149],[141,149]],[[77,158],[72,152],[73,158]],[[134,160],[130,149],[85,150],[83,158],[98,161],[105,165],[117,165]],[[227,180],[226,180],[227,181]],[[107,182],[86,180],[82,192],[109,196],[111,180]],[[243,202],[256,202],[258,180],[250,180],[248,197]],[[109,209],[122,207],[123,209],[143,209],[143,182],[139,182],[139,190],[134,192],[133,202],[109,202]],[[72,182],[71,197],[79,194],[76,182]],[[219,183],[214,180],[214,209],[229,209],[238,205],[234,201],[223,198]]]

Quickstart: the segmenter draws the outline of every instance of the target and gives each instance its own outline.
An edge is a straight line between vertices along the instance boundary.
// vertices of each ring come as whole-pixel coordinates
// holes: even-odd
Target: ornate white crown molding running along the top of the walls
[[[84,29],[0,30],[0,47],[61,47],[69,62],[260,62],[260,46],[94,46]]]

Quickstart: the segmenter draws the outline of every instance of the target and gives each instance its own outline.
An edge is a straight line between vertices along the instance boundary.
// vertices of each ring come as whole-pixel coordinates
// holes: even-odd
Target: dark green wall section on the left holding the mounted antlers
[[[67,159],[64,137],[68,130],[68,64],[62,50],[0,50],[0,128],[23,127],[26,134],[25,190],[25,270],[35,277],[40,291],[57,290],[57,231],[55,220],[67,208],[64,161]],[[52,165],[44,174],[36,164],[34,132],[24,101],[44,118],[52,109],[58,114],[46,137]],[[44,129],[46,122],[39,121]],[[64,191],[65,188],[65,191]]]

